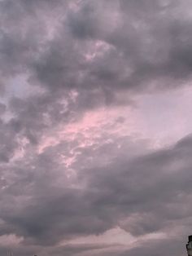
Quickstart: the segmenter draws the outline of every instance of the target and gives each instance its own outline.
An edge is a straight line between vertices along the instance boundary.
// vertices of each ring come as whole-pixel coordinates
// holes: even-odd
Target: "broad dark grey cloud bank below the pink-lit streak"
[[[28,201],[24,203],[21,197],[23,204],[16,209],[13,205],[9,212],[10,206],[2,206],[1,217],[28,243],[41,245],[100,234],[117,225],[139,236],[184,224],[191,213],[189,148],[185,154],[190,140],[185,139],[182,148],[178,143],[130,161],[121,158],[103,167],[87,166],[87,171],[79,170],[78,180],[73,181],[82,184],[80,188],[68,187],[67,175],[63,175],[66,170],[55,155],[58,150],[51,152],[52,159],[45,152],[17,171],[18,179],[6,190],[12,195],[8,201],[17,201],[21,191],[30,196]],[[178,169],[176,161],[181,161]],[[81,161],[73,168],[76,165],[81,166]]]

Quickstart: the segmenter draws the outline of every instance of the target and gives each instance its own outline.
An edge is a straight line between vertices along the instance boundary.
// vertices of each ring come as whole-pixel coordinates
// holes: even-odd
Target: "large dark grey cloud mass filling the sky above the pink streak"
[[[50,120],[58,117],[58,122],[63,118],[68,121],[101,105],[133,104],[133,93],[167,90],[190,77],[191,21],[177,14],[179,8],[186,11],[181,2],[73,4],[76,8],[72,9],[63,1],[1,2],[3,84],[6,77],[27,74],[32,87],[46,90],[37,99],[24,100],[26,114],[16,112],[18,108],[12,103],[9,107],[17,116],[12,123],[17,129],[22,126],[33,144],[47,126],[43,122],[46,115]],[[49,38],[47,28],[55,20],[55,36]],[[87,60],[87,55],[92,59]],[[66,110],[59,101],[61,95],[71,100],[71,90],[77,96]],[[128,97],[123,97],[124,90],[129,91]],[[33,121],[29,121],[32,112],[28,111],[33,112]]]

